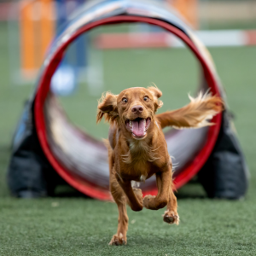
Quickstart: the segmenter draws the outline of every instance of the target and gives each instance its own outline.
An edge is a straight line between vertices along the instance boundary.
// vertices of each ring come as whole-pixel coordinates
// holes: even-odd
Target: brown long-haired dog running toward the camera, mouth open
[[[190,103],[180,109],[155,115],[162,106],[161,91],[135,87],[119,95],[108,93],[98,104],[97,122],[103,117],[111,124],[108,136],[110,191],[119,209],[117,234],[110,245],[126,243],[128,216],[126,203],[133,211],[143,207],[158,210],[166,207],[164,221],[178,224],[177,199],[173,194],[172,160],[167,151],[162,129],[178,129],[212,125],[210,119],[223,109],[223,102],[211,94],[190,97]],[[142,182],[156,176],[158,195],[146,195],[134,189],[131,181]]]

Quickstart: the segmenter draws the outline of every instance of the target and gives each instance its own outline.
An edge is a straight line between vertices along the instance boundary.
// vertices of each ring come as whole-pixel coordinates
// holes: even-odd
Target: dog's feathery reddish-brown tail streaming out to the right
[[[172,126],[185,129],[214,125],[211,123],[212,117],[224,109],[223,100],[211,93],[200,92],[196,98],[189,96],[189,99],[189,104],[183,108],[156,115],[162,128]]]

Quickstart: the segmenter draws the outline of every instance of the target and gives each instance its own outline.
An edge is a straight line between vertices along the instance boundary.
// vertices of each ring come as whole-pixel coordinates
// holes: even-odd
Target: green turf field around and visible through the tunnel
[[[30,86],[9,85],[6,26],[0,23],[0,255],[256,255],[256,48],[210,49],[222,79],[241,146],[250,168],[244,200],[209,200],[190,183],[177,191],[179,226],[163,223],[160,211],[132,212],[128,244],[109,247],[116,231],[117,208],[71,192],[68,196],[19,200],[9,195],[6,171],[10,141]],[[196,63],[184,49],[108,51],[104,53],[105,88],[155,82],[165,95],[165,108],[188,102],[198,76]],[[192,89],[191,89],[192,88]],[[82,86],[61,99],[70,119],[95,137],[107,125],[96,126],[96,98]],[[75,196],[77,195],[77,196]]]

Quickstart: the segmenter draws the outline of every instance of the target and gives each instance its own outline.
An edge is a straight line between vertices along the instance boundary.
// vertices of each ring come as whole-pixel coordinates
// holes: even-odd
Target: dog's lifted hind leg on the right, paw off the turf
[[[164,221],[168,224],[178,224],[179,217],[177,214],[177,198],[173,193],[172,186],[169,189],[169,200],[167,203],[166,212],[163,215]]]

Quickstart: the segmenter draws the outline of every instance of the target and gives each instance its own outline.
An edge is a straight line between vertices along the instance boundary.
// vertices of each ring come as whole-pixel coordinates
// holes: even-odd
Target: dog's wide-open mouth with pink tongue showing
[[[151,119],[142,119],[137,118],[134,120],[127,119],[125,121],[125,125],[128,131],[131,131],[133,137],[135,138],[143,138],[147,134],[148,127],[150,125]]]

